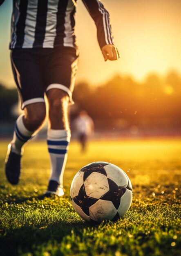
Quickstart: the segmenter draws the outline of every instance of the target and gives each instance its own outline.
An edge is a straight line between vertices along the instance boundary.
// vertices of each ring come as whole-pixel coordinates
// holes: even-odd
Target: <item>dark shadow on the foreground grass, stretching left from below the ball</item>
[[[45,227],[23,226],[17,229],[1,230],[0,255],[18,256],[19,252],[32,253],[34,249],[51,243],[60,244],[66,236],[81,236],[83,229],[98,227],[97,223],[88,222],[58,222]]]

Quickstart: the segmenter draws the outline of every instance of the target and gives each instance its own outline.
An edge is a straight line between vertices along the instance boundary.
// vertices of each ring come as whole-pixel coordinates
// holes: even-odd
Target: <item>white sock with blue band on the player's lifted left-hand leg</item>
[[[27,130],[23,124],[23,115],[20,115],[15,123],[13,140],[11,141],[11,150],[16,154],[22,154],[22,146],[31,139],[34,132]]]

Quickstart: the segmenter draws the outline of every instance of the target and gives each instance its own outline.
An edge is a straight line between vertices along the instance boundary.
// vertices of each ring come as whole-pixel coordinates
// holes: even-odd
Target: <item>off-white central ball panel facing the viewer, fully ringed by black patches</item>
[[[84,182],[86,195],[99,199],[109,191],[107,177],[104,174],[93,172]]]

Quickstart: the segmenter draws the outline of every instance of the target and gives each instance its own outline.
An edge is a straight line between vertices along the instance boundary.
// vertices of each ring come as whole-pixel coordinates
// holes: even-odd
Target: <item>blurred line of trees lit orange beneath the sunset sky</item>
[[[181,76],[174,71],[163,77],[149,74],[143,83],[131,76],[114,76],[99,87],[78,83],[73,98],[72,117],[87,110],[98,126],[181,126]],[[17,101],[16,89],[0,85],[1,121],[13,118]]]

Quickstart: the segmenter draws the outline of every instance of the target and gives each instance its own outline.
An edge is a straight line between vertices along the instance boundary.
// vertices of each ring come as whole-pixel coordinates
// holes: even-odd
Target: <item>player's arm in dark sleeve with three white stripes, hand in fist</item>
[[[97,27],[97,38],[105,61],[114,61],[119,58],[117,48],[114,46],[109,13],[99,0],[82,0]]]

